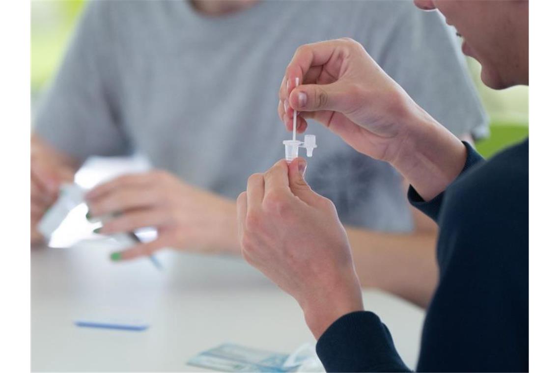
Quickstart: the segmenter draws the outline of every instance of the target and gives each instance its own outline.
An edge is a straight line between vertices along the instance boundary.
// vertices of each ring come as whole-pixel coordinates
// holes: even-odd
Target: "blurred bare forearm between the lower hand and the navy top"
[[[363,287],[377,287],[425,308],[437,284],[436,232],[391,234],[346,227]]]

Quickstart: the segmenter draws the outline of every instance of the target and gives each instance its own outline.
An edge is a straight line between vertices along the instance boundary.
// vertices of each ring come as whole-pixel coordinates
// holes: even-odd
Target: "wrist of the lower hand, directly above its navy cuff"
[[[362,292],[356,272],[334,281],[332,285],[321,286],[321,292],[314,292],[309,298],[300,302],[304,311],[305,322],[315,339],[325,332],[340,317],[363,311]]]

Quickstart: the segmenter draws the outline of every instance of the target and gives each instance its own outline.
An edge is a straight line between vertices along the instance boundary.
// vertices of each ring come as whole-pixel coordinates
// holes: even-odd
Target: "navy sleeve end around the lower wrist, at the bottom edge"
[[[409,372],[389,329],[376,314],[357,311],[336,320],[317,341],[328,372]]]

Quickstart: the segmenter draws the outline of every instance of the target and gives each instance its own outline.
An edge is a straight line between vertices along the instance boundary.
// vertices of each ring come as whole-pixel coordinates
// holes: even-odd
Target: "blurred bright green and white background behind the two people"
[[[34,0],[31,2],[31,97],[35,100],[56,72],[83,0]],[[485,157],[524,139],[529,134],[529,88],[493,91],[480,81],[480,65],[468,58],[473,81],[490,118],[490,136],[477,143]]]

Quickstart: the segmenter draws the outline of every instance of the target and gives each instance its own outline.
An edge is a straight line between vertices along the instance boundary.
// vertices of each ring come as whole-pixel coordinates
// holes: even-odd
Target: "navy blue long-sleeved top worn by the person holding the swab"
[[[422,330],[418,371],[529,370],[529,140],[465,167],[431,201],[410,202],[438,223],[440,279]],[[344,315],[323,333],[327,371],[409,371],[379,317]]]

